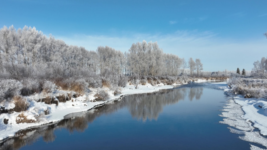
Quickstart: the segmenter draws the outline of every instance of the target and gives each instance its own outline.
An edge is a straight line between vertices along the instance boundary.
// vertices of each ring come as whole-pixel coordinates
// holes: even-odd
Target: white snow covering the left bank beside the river
[[[121,88],[122,93],[114,95],[113,91],[106,88],[109,93],[109,98],[105,101],[94,101],[94,94],[96,93],[93,89],[91,94],[72,98],[72,100],[66,102],[59,102],[56,104],[46,104],[45,102],[37,102],[33,99],[40,99],[40,95],[34,95],[27,97],[30,101],[30,107],[27,111],[23,112],[26,117],[18,117],[22,112],[13,113],[2,113],[0,115],[0,140],[7,137],[14,136],[15,133],[21,129],[28,127],[38,126],[50,122],[57,122],[64,119],[64,116],[74,112],[86,111],[93,108],[96,105],[103,104],[107,101],[120,98],[122,95],[136,94],[136,93],[148,93],[155,92],[160,89],[173,88],[173,85],[158,84],[152,86],[151,84],[141,85],[139,84],[136,88],[134,85],[127,85]],[[63,92],[63,91],[59,91]],[[49,110],[50,113],[45,115],[45,110]],[[40,115],[41,114],[41,115]],[[18,119],[35,120],[34,123],[17,123]],[[4,123],[6,120],[6,123]],[[7,121],[8,120],[8,121]]]

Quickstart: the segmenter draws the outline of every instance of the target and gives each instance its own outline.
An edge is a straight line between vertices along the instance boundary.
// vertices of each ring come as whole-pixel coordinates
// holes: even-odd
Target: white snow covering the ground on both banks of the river
[[[198,80],[195,82],[204,82],[206,80]],[[216,89],[223,89],[225,93],[228,86],[226,81],[224,82],[215,82],[207,83],[207,86]],[[44,102],[36,102],[31,99],[38,99],[38,95],[28,97],[28,100],[31,101],[30,108],[27,112],[24,112],[29,119],[35,119],[38,123],[16,123],[17,116],[19,112],[14,112],[12,114],[1,114],[0,115],[0,140],[11,137],[15,135],[15,132],[25,129],[28,127],[46,124],[50,122],[57,122],[64,119],[64,116],[73,112],[86,111],[93,108],[96,105],[105,103],[107,101],[120,98],[121,95],[126,94],[135,94],[135,93],[147,93],[158,91],[159,89],[173,88],[172,85],[163,85],[158,84],[152,86],[151,84],[138,85],[135,88],[134,85],[127,85],[124,88],[121,88],[122,94],[113,95],[112,91],[109,92],[110,98],[106,101],[93,101],[94,94],[96,91],[92,89],[91,94],[83,95],[77,98],[73,98],[67,102],[60,102],[58,106],[56,104],[45,104]],[[109,90],[109,89],[106,89]],[[229,127],[229,130],[233,133],[240,134],[239,138],[249,141],[251,143],[257,143],[262,145],[262,147],[267,148],[267,102],[266,99],[255,99],[255,98],[243,98],[241,95],[232,95],[228,93],[228,101],[222,109],[223,121],[221,123],[229,124],[232,127]],[[50,114],[44,115],[40,114],[40,111],[44,111],[49,108]],[[9,119],[8,124],[4,124],[4,118]],[[255,128],[258,128],[256,130]],[[251,144],[251,149],[260,149],[258,145]]]

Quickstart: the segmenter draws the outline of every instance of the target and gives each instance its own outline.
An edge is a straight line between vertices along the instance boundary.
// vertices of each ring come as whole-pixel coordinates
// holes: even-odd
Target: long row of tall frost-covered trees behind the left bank
[[[16,30],[4,26],[0,30],[1,78],[21,80],[68,78],[74,76],[180,75],[185,69],[190,75],[200,74],[200,59],[184,58],[164,53],[157,42],[133,43],[128,52],[109,46],[96,51],[86,50],[45,36],[35,27]]]

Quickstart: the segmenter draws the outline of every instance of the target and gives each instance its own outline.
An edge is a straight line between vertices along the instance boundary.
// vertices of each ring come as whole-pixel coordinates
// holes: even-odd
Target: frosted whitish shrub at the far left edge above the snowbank
[[[23,84],[15,79],[0,80],[0,101],[19,95]]]

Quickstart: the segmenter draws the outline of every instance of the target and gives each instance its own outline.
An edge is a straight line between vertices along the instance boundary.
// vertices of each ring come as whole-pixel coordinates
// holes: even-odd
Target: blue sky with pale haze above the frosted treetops
[[[267,0],[0,0],[0,27],[35,26],[67,44],[128,51],[158,42],[206,71],[251,70],[267,56]]]

